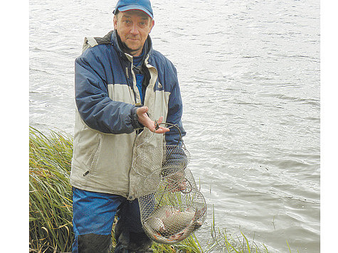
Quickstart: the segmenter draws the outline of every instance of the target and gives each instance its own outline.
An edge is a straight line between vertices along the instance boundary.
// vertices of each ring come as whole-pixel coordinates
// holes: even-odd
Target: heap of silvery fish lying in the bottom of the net
[[[181,241],[189,237],[201,227],[199,218],[204,215],[206,208],[194,210],[186,208],[181,211],[169,205],[157,208],[144,223],[144,229],[152,235],[157,242],[171,243]]]

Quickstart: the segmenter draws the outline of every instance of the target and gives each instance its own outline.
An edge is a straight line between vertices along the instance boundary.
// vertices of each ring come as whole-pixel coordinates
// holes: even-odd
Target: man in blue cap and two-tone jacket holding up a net
[[[174,65],[152,49],[149,0],[120,0],[114,31],[85,38],[75,60],[73,252],[110,252],[115,214],[115,252],[150,252],[139,217],[137,182],[131,169],[139,144],[176,145],[182,102]],[[145,146],[145,145],[144,145]]]

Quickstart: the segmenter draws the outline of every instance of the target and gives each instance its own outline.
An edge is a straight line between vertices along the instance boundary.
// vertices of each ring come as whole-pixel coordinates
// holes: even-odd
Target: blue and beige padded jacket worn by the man
[[[131,169],[137,146],[150,150],[175,145],[180,137],[174,128],[164,135],[153,136],[147,128],[139,133],[133,117],[135,107],[141,105],[133,58],[121,47],[116,31],[103,38],[85,38],[83,53],[75,60],[77,110],[70,183],[75,188],[133,200],[140,180]],[[149,108],[149,117],[154,120],[163,116],[164,122],[177,124],[184,136],[176,68],[152,49],[149,36],[144,50],[143,68],[149,82],[144,105]]]

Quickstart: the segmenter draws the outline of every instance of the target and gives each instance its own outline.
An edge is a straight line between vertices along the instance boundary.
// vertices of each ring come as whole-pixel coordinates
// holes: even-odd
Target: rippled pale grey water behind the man
[[[319,252],[319,1],[153,0],[154,48],[176,65],[197,236],[243,232],[270,252]],[[73,134],[74,60],[115,1],[30,1],[30,124]],[[286,242],[287,240],[287,242]],[[221,252],[216,249],[215,252]]]

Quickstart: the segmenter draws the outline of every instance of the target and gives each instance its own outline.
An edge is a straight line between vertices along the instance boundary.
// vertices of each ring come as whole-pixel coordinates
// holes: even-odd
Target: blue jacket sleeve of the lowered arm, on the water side
[[[183,128],[182,124],[182,114],[183,114],[183,104],[181,99],[181,91],[179,89],[179,80],[177,78],[177,72],[174,65],[171,63],[173,75],[169,75],[173,78],[172,89],[169,95],[169,103],[168,103],[168,114],[167,114],[167,122],[171,124],[176,124],[181,131],[181,136],[176,127],[171,127],[170,131],[166,133],[165,139],[167,145],[177,145],[181,146],[181,137],[186,135],[186,131]]]

